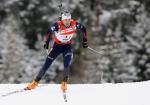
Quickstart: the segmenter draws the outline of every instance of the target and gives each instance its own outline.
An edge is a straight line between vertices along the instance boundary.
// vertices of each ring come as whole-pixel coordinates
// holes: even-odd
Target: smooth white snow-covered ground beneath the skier
[[[41,84],[42,85],[42,84]],[[150,81],[139,83],[70,84],[65,102],[59,84],[3,97],[26,84],[0,84],[0,105],[150,105]]]

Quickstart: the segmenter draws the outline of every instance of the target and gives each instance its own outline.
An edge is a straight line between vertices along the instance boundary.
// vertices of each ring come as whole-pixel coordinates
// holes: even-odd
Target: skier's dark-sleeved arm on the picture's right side
[[[83,48],[87,48],[88,44],[87,44],[87,32],[86,32],[86,28],[80,24],[80,23],[76,23],[76,27],[77,29],[80,29],[82,31],[82,35],[83,35]]]

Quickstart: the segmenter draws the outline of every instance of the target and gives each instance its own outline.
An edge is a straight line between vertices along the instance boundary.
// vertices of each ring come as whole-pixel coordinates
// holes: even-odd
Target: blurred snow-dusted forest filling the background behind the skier
[[[0,1],[0,81],[29,82],[44,63],[43,36],[58,20],[60,1]],[[82,49],[74,41],[70,82],[132,82],[150,79],[149,0],[65,0],[64,9],[87,28],[88,44],[103,54]],[[77,36],[81,36],[78,32]],[[59,57],[45,75],[58,82]],[[14,78],[15,77],[15,78]],[[80,78],[79,78],[80,77]]]

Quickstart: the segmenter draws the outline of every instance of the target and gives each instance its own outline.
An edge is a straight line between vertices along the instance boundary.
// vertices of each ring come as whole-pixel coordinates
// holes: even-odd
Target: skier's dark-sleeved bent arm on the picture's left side
[[[48,30],[45,35],[45,44],[44,44],[45,49],[48,49],[49,41],[50,41],[51,35],[54,31],[58,31],[57,22],[55,22],[51,27],[48,27]]]

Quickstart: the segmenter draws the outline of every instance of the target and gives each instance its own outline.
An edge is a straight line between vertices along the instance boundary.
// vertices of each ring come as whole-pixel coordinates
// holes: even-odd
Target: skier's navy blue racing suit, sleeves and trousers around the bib
[[[48,32],[46,34],[46,40],[45,43],[49,44],[49,40],[51,35],[54,32],[59,31],[59,25],[57,24],[58,22],[55,22],[51,27],[48,28]],[[86,35],[86,29],[83,25],[81,25],[80,23],[76,22],[75,24],[75,29],[80,29],[83,33],[83,42],[87,42],[87,35]],[[64,81],[67,81],[68,79],[68,75],[69,75],[69,67],[70,67],[70,61],[72,58],[72,46],[71,43],[56,43],[54,42],[53,47],[51,48],[50,53],[48,54],[44,65],[42,66],[42,68],[40,69],[38,75],[35,78],[35,81],[39,82],[41,80],[41,78],[44,76],[44,74],[46,73],[46,71],[48,70],[48,68],[51,66],[52,62],[56,59],[56,57],[62,54],[63,55],[63,62],[64,62]]]

